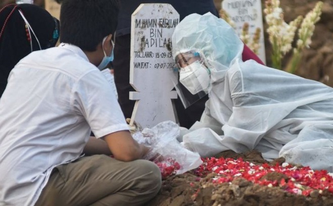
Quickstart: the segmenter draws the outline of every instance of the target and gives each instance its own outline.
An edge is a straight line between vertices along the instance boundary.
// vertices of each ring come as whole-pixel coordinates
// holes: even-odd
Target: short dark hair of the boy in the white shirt
[[[60,10],[60,42],[95,51],[103,38],[114,35],[118,0],[64,0]]]

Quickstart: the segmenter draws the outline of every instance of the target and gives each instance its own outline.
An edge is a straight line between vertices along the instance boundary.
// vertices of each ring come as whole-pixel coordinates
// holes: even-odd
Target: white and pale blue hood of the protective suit
[[[211,71],[211,83],[223,81],[227,69],[242,58],[244,44],[225,20],[206,13],[191,14],[175,28],[173,57],[195,51]]]

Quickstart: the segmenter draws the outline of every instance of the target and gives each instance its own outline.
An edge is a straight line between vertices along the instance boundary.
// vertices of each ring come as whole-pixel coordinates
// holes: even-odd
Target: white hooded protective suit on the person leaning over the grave
[[[265,159],[333,170],[333,88],[242,61],[233,28],[210,13],[187,16],[172,37],[173,55],[198,51],[210,69],[209,100],[183,145],[208,157],[258,150]]]

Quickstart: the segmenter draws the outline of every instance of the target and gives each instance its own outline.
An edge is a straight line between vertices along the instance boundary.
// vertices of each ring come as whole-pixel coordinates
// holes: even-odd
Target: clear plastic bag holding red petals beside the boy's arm
[[[198,153],[182,147],[177,141],[179,135],[180,127],[172,121],[165,121],[151,129],[145,128],[132,134],[138,143],[150,148],[144,159],[155,162],[161,170],[162,177],[182,174],[202,164]],[[162,160],[159,155],[162,156]]]

